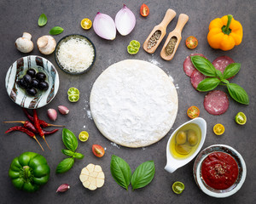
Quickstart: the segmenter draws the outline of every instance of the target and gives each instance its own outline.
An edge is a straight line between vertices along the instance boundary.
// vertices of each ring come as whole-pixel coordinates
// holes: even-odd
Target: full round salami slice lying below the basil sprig
[[[214,116],[224,114],[229,105],[227,94],[219,90],[209,92],[204,99],[205,110]]]

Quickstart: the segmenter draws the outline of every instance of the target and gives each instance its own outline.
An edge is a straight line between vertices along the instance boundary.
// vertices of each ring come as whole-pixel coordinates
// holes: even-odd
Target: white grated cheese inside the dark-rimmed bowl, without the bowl
[[[57,58],[66,71],[85,71],[94,59],[94,48],[84,39],[70,38],[61,43]]]

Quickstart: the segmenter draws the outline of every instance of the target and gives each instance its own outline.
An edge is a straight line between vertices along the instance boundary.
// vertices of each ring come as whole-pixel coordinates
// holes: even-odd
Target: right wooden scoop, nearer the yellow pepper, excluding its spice
[[[174,54],[176,53],[177,51],[177,47],[179,45],[179,42],[181,41],[182,39],[182,36],[181,36],[181,32],[183,31],[183,27],[186,25],[186,23],[188,22],[189,20],[189,16],[186,15],[186,14],[179,14],[178,16],[178,20],[177,20],[177,26],[175,27],[175,29],[169,33],[168,37],[166,38],[166,42],[160,52],[160,56],[162,59],[165,59],[165,60],[172,60],[172,58],[174,57]],[[168,44],[168,42],[170,42],[171,38],[172,37],[177,37],[177,42],[175,44],[175,47],[174,47],[174,50],[172,52],[172,54],[167,54],[166,53],[166,46]]]

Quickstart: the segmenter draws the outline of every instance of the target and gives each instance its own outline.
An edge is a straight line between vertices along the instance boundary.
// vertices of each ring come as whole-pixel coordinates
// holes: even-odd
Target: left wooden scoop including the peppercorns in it
[[[153,54],[155,49],[160,45],[162,39],[166,36],[166,27],[175,17],[176,12],[172,9],[166,11],[166,15],[162,22],[154,26],[154,29],[150,32],[148,38],[143,43],[143,49],[149,53]]]

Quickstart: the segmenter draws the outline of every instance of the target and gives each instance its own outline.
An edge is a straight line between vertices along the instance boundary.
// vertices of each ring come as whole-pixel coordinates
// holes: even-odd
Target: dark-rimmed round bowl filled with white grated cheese
[[[89,71],[96,59],[96,48],[88,37],[79,34],[62,37],[55,48],[55,61],[68,74]]]

